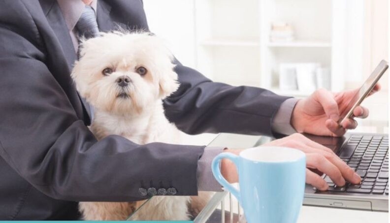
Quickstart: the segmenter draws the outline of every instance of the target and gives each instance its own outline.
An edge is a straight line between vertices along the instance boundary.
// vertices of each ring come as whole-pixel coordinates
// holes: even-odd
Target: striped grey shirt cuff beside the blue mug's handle
[[[213,172],[211,171],[211,162],[224,149],[224,147],[206,147],[204,149],[203,155],[198,160],[198,191],[222,191],[222,186],[214,178]]]

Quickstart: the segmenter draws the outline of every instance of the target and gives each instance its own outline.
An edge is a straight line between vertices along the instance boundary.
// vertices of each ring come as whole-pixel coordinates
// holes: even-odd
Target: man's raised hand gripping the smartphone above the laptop
[[[380,90],[377,84],[370,95]],[[340,114],[348,108],[349,102],[357,93],[358,89],[330,93],[324,89],[315,91],[311,96],[299,100],[292,111],[291,125],[297,132],[306,132],[315,135],[342,136],[346,129],[357,127],[354,119],[348,119],[341,123],[337,121]],[[357,106],[354,110],[354,117],[366,118],[368,109]]]

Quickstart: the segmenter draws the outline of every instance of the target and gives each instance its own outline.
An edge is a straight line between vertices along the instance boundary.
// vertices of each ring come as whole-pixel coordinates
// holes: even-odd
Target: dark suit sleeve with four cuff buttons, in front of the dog
[[[140,200],[141,186],[197,193],[204,147],[97,141],[45,65],[41,42],[23,6],[0,9],[0,156],[13,169],[62,200]]]

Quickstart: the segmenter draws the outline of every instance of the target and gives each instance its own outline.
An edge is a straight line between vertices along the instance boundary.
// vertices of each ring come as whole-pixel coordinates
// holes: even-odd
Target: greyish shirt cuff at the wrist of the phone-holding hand
[[[298,99],[296,98],[289,98],[280,105],[278,112],[272,120],[272,131],[283,135],[291,135],[296,132],[291,125],[291,116],[297,101]]]

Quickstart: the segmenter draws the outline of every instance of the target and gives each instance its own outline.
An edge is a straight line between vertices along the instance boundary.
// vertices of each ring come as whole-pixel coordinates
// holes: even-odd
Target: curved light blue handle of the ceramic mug
[[[231,184],[228,183],[227,180],[221,174],[221,170],[219,168],[219,163],[220,163],[221,159],[224,159],[224,158],[230,159],[231,161],[233,161],[234,164],[236,165],[237,172],[238,172],[238,159],[239,159],[239,157],[234,155],[234,154],[231,154],[231,153],[221,153],[218,156],[216,156],[213,159],[213,161],[211,162],[211,170],[213,171],[213,175],[214,175],[215,179],[223,187],[225,187],[227,189],[227,191],[231,192],[237,198],[237,200],[241,203],[240,192],[237,189],[235,189],[233,186],[231,186]]]

